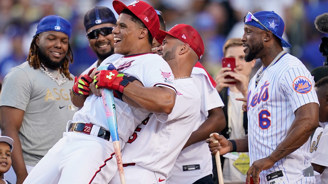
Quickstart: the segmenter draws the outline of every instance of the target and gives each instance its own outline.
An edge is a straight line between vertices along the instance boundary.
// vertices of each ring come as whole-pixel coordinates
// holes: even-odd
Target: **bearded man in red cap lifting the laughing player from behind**
[[[200,118],[200,94],[190,77],[193,67],[204,53],[204,44],[191,26],[180,24],[156,38],[165,37],[157,48],[174,74],[177,97],[169,115],[153,114],[140,124],[133,141],[122,151],[127,184],[165,183],[181,149]],[[116,174],[110,184],[119,184]]]

